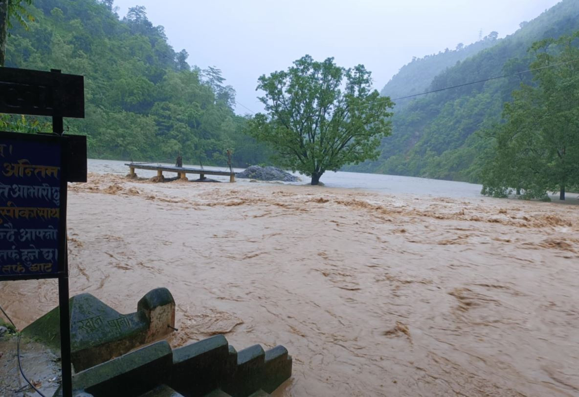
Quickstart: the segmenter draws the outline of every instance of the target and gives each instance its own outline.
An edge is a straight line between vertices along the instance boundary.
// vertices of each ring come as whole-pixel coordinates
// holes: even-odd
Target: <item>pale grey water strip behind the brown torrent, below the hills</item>
[[[113,173],[118,175],[126,175],[129,173],[129,167],[126,166],[126,161],[115,160],[97,160],[89,159],[89,172],[96,173]],[[157,164],[157,163],[153,163]],[[167,163],[158,163],[162,165],[174,165]],[[199,165],[187,165],[186,167],[199,168]],[[212,167],[204,166],[207,170],[227,170],[226,167]],[[234,168],[235,172],[243,171],[243,168]],[[137,175],[141,177],[156,176],[156,171],[150,170],[136,170]],[[171,173],[164,175],[171,177]],[[304,184],[309,182],[309,177],[295,174],[301,177],[302,181],[298,183],[285,184]],[[194,175],[190,175],[192,179]],[[211,179],[219,181],[229,181],[226,176],[210,176]],[[437,179],[416,178],[409,176],[395,176],[395,175],[381,175],[381,174],[367,174],[359,172],[326,172],[320,179],[327,187],[349,188],[349,189],[364,189],[385,194],[413,194],[421,196],[434,197],[480,197],[482,185],[466,182],[455,182]],[[246,183],[247,179],[239,179],[239,183]]]

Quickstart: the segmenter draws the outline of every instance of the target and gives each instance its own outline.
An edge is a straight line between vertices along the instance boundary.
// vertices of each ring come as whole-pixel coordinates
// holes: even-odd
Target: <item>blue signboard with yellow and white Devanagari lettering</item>
[[[0,280],[57,277],[64,270],[62,141],[0,133]]]

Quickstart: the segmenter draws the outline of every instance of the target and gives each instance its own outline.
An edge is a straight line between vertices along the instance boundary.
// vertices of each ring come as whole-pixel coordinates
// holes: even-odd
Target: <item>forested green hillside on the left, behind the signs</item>
[[[191,68],[144,7],[119,20],[112,1],[34,0],[28,29],[10,29],[6,66],[85,76],[86,119],[66,120],[88,136],[89,157],[257,164],[266,149],[244,135],[235,91],[219,69]],[[194,57],[193,57],[194,58]],[[193,59],[194,61],[194,59]]]

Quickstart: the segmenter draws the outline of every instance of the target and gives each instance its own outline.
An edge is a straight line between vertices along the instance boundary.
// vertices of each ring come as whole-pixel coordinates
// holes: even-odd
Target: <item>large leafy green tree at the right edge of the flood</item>
[[[535,85],[522,84],[494,131],[494,155],[482,171],[483,194],[544,198],[579,184],[579,32],[534,43]]]

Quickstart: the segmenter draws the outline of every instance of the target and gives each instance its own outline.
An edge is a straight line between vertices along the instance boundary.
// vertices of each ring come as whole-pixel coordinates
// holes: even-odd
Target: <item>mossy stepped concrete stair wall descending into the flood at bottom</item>
[[[72,385],[77,396],[263,397],[291,376],[291,366],[283,346],[238,353],[217,335],[175,350],[166,341],[150,344],[75,374]]]

